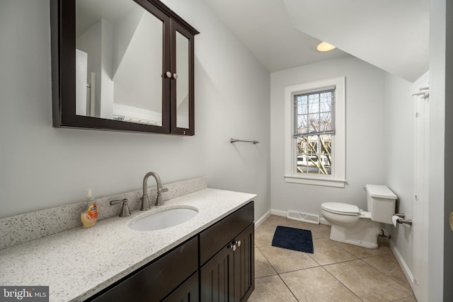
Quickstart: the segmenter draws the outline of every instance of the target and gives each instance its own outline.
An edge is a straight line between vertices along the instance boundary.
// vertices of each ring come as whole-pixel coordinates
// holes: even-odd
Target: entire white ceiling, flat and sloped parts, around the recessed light
[[[346,54],[408,81],[428,71],[430,0],[203,1],[270,72]]]

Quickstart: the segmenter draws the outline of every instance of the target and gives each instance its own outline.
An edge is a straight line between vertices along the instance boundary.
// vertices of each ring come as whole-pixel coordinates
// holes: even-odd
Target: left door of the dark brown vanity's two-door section
[[[200,269],[201,302],[233,301],[234,252],[226,246]]]

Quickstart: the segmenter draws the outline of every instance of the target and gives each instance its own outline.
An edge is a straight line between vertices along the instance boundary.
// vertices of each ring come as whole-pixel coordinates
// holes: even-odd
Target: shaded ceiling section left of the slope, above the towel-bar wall
[[[347,55],[316,52],[316,37],[294,28],[283,0],[203,0],[269,72]]]

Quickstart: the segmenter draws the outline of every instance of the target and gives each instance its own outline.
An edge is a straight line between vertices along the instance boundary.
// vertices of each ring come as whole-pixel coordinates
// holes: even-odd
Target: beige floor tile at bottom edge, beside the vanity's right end
[[[248,302],[297,302],[278,275],[255,279],[255,290]]]

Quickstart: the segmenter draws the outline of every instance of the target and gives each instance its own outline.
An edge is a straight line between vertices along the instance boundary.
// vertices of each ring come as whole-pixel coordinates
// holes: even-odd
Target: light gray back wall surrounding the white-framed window
[[[351,56],[287,69],[271,74],[271,199],[272,209],[321,215],[327,201],[357,204],[365,209],[362,190],[367,183],[385,185],[384,74]],[[285,182],[284,88],[298,83],[346,76],[345,188]]]

